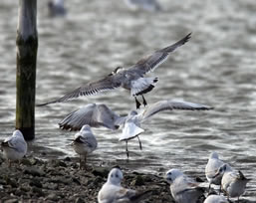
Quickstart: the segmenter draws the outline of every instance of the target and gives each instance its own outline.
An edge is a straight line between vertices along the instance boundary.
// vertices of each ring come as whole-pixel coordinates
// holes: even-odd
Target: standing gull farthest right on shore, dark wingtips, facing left
[[[240,170],[233,169],[229,164],[225,163],[219,167],[216,176],[222,175],[221,189],[229,197],[239,197],[244,193],[246,184],[251,180],[244,176]]]

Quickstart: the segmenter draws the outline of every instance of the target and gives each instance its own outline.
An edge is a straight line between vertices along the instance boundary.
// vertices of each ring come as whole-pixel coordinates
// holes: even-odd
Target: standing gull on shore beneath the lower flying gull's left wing
[[[87,156],[97,148],[98,142],[88,124],[82,126],[81,130],[75,134],[72,141],[74,150],[80,155],[80,168],[82,168],[81,156],[84,156],[85,166],[87,163]]]

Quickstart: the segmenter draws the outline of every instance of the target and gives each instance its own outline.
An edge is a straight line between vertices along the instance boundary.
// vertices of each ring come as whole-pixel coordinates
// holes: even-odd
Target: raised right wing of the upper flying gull
[[[130,67],[128,71],[145,75],[148,72],[154,71],[159,65],[161,65],[168,57],[169,53],[173,52],[176,48],[184,45],[191,37],[191,33],[179,40],[173,45],[157,50],[152,55],[149,55],[139,60],[135,65]]]

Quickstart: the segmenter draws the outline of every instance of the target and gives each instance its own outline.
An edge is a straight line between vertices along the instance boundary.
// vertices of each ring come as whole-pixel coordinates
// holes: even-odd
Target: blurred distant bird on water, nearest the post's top
[[[49,16],[51,17],[65,16],[67,14],[67,10],[64,7],[64,0],[49,0],[48,10]]]

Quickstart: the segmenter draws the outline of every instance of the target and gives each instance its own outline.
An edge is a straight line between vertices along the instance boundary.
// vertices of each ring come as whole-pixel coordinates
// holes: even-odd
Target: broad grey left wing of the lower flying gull
[[[106,104],[90,103],[69,113],[59,122],[59,126],[62,129],[80,130],[83,125],[89,124],[92,127],[117,129],[119,125],[115,121],[119,118]]]

